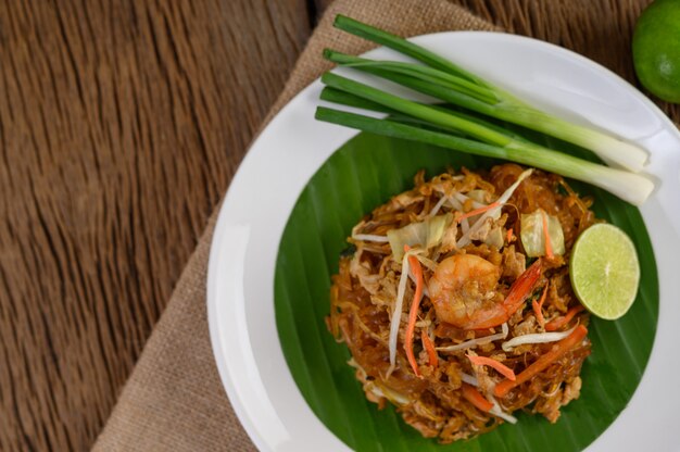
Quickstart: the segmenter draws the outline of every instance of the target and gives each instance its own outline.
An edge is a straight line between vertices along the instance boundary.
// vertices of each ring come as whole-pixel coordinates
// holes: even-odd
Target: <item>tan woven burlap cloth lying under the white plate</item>
[[[338,13],[402,36],[494,28],[445,0],[338,0],[311,37],[268,118],[329,67],[322,58],[325,47],[349,53],[370,47],[332,28]],[[227,400],[210,344],[205,280],[215,218],[213,214],[95,450],[255,449]]]

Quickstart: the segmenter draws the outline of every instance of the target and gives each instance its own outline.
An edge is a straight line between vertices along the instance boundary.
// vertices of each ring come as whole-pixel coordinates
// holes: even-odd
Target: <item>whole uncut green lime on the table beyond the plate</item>
[[[633,33],[633,62],[640,83],[669,102],[680,102],[680,0],[656,0]]]

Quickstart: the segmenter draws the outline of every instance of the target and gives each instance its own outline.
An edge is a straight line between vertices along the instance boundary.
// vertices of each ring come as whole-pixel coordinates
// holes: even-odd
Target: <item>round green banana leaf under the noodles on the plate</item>
[[[532,136],[534,141],[593,160],[574,146]],[[658,284],[652,246],[638,209],[594,187],[569,181],[592,196],[595,214],[633,239],[641,286],[631,310],[616,322],[592,318],[592,354],[581,377],[581,397],[562,409],[556,424],[518,413],[468,441],[439,444],[406,425],[392,406],[378,410],[364,397],[347,362],[350,353],[326,328],[330,277],[338,271],[347,237],[362,216],[413,187],[413,176],[452,166],[490,168],[501,163],[436,147],[360,134],[338,149],[301,193],[285,229],[274,284],[281,348],[310,407],[338,438],[357,451],[580,451],[626,409],[650,357],[658,316]],[[516,413],[517,414],[517,413]]]

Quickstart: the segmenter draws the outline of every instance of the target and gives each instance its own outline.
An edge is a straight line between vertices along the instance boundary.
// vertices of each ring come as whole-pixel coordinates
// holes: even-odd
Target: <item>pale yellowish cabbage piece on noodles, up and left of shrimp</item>
[[[453,223],[453,215],[437,215],[425,222],[412,223],[399,229],[391,229],[387,233],[387,238],[392,248],[394,260],[400,262],[404,255],[404,244],[410,247],[420,246],[430,249],[441,242],[446,228]]]

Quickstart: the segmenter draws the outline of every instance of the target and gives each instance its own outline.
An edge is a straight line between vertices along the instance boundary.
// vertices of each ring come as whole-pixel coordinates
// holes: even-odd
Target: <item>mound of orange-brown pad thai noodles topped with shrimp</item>
[[[557,422],[591,349],[568,273],[591,204],[561,176],[503,164],[420,172],[361,221],[327,323],[366,398],[442,443],[517,410]]]

